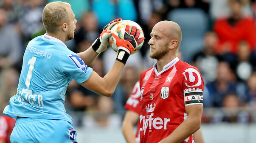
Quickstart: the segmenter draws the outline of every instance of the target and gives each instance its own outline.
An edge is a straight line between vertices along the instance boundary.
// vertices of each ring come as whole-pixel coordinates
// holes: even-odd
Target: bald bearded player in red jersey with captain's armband
[[[150,35],[149,54],[157,63],[140,77],[141,143],[194,143],[203,112],[203,78],[175,56],[182,38],[177,23],[158,22]]]

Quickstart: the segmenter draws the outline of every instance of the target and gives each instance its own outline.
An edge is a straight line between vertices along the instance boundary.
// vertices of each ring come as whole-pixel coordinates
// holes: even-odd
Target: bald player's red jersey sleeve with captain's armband
[[[183,94],[184,103],[187,105],[203,105],[204,82],[199,70],[195,67],[188,67],[183,71]]]

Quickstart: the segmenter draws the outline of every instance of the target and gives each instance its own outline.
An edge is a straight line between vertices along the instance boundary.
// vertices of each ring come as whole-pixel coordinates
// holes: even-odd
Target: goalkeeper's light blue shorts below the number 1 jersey
[[[76,131],[65,120],[18,118],[11,143],[77,143]]]

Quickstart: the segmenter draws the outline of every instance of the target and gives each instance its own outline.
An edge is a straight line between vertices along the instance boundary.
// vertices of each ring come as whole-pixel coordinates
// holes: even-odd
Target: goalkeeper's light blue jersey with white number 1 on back
[[[17,94],[3,114],[16,118],[61,119],[72,124],[65,110],[65,93],[75,79],[86,81],[92,68],[59,39],[41,35],[28,43]]]

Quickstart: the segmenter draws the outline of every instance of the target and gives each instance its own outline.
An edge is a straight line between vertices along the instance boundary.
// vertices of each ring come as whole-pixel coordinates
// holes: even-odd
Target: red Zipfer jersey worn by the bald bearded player
[[[203,105],[204,82],[196,67],[177,57],[158,73],[154,67],[140,78],[141,143],[158,143],[170,135],[185,119],[185,106]],[[182,143],[194,143],[193,135]]]

